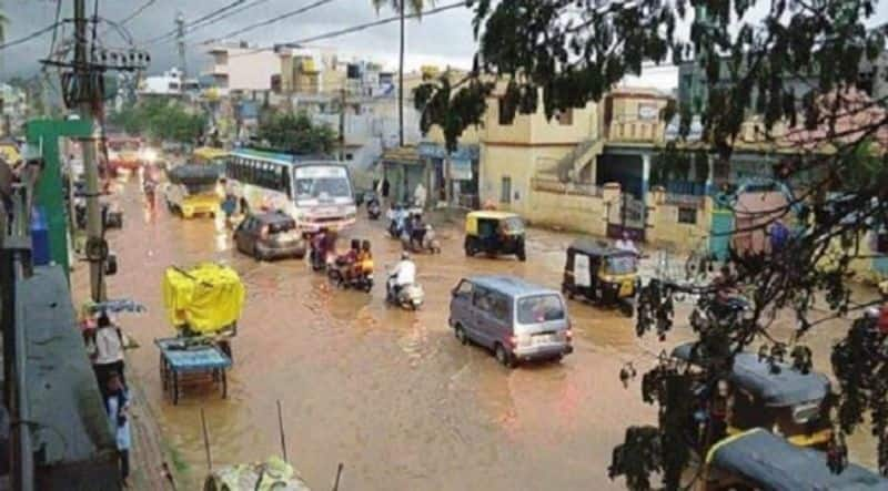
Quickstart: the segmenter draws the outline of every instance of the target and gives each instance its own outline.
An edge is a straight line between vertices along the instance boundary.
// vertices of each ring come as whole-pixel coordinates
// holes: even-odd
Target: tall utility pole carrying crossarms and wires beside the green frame
[[[80,117],[92,121],[93,103],[100,99],[93,85],[93,71],[87,60],[85,0],[74,0],[74,76],[79,81],[78,109]],[[80,141],[83,151],[83,174],[87,187],[87,244],[102,244],[102,213],[99,204],[99,163],[95,160],[95,137]],[[104,300],[103,259],[90,259],[90,293],[94,301]]]

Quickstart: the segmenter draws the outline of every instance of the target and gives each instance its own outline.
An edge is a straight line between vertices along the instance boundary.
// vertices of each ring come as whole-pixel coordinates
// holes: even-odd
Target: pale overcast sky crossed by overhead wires
[[[88,10],[92,12],[95,0],[87,0]],[[99,0],[100,17],[122,20],[150,0]],[[249,24],[278,19],[286,12],[314,3],[316,0],[242,0],[242,4],[258,3],[256,7],[242,13],[222,19],[211,25],[196,28],[188,32],[189,70],[206,68],[208,57],[203,53],[206,45],[203,41],[223,37],[226,33]],[[446,6],[455,0],[436,0],[436,6]],[[176,10],[181,10],[185,21],[195,20],[223,8],[235,0],[153,0],[141,14],[133,18],[125,27],[140,45],[144,41],[164,34],[175,28]],[[766,7],[767,2],[759,7]],[[3,12],[9,18],[7,40],[16,40],[50,25],[56,14],[56,0],[0,0]],[[62,18],[71,17],[73,0],[62,0]],[[240,7],[240,6],[239,6]],[[236,8],[239,8],[236,7]],[[235,8],[235,9],[236,9]],[[234,9],[232,9],[234,10]],[[231,12],[232,10],[229,10]],[[383,9],[379,14],[371,0],[332,0],[330,3],[312,9],[279,22],[264,25],[231,39],[244,40],[251,44],[268,45],[275,42],[295,41],[312,35],[373,22],[390,17],[394,12]],[[888,20],[888,1],[879,2],[875,21]],[[101,32],[101,30],[100,30]],[[70,38],[71,25],[68,24],[64,35]],[[33,41],[0,51],[0,80],[17,74],[32,73],[38,60],[44,58],[50,45],[51,34],[47,33]],[[103,38],[108,45],[125,45],[122,39],[109,33]],[[379,61],[387,67],[396,67],[398,28],[393,22],[374,27],[335,39],[321,41],[317,45],[336,48],[347,58],[359,57]],[[472,37],[472,12],[468,9],[448,10],[435,16],[427,16],[422,21],[411,20],[407,24],[407,68],[422,64],[450,64],[468,68],[474,53]],[[178,63],[175,43],[169,40],[150,48],[152,63],[150,73],[159,73]],[[660,90],[669,90],[677,84],[674,69],[655,68],[647,70],[642,79],[630,78],[624,84],[648,85]]]

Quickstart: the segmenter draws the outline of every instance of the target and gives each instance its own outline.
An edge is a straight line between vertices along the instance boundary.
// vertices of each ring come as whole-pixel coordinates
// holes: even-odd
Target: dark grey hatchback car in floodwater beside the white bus
[[[305,239],[296,222],[282,212],[246,215],[234,229],[234,244],[259,260],[305,257]]]

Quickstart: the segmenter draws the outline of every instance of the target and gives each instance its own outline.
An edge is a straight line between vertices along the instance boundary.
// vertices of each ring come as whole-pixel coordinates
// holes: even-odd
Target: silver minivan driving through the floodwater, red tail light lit
[[[562,295],[513,276],[463,278],[452,291],[450,325],[462,344],[492,350],[506,367],[573,352]]]

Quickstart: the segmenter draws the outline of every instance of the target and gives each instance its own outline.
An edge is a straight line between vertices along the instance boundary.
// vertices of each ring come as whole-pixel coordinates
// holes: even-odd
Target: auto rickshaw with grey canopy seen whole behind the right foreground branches
[[[699,366],[695,342],[673,349],[675,359]],[[784,436],[798,447],[826,448],[833,438],[829,422],[829,379],[820,372],[803,374],[783,362],[769,362],[757,354],[734,357],[728,382],[734,409],[726,421],[728,436],[764,428]]]

